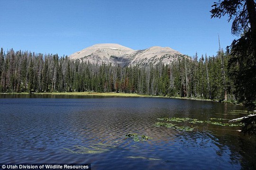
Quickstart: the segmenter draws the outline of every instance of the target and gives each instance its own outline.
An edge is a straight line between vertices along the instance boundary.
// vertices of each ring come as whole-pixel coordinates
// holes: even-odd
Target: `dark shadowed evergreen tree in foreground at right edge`
[[[248,110],[254,110],[256,101],[256,1],[219,0],[212,6],[211,17],[227,15],[232,20],[231,32],[240,35],[228,47],[229,74],[235,80],[236,92],[245,101]]]

